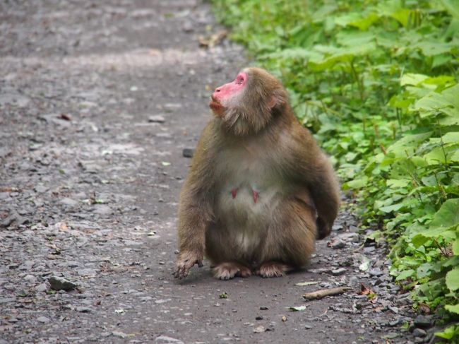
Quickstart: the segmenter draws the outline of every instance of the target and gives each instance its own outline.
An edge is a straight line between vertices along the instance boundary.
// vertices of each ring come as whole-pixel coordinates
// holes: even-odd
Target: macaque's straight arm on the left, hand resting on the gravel
[[[198,264],[203,266],[205,230],[213,218],[213,151],[210,124],[204,129],[191,161],[179,201],[179,256],[174,276],[184,278]]]

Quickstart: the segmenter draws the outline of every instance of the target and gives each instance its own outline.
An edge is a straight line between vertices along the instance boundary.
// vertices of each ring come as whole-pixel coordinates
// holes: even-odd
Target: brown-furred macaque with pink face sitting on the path
[[[220,86],[179,202],[174,276],[210,260],[215,278],[282,276],[330,234],[339,185],[280,81],[246,68]]]

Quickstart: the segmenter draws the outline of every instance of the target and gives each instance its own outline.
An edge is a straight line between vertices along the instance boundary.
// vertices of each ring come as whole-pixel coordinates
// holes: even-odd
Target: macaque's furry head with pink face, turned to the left
[[[227,131],[243,136],[261,131],[274,116],[282,114],[287,93],[270,73],[250,67],[231,83],[216,88],[211,98],[209,107]]]

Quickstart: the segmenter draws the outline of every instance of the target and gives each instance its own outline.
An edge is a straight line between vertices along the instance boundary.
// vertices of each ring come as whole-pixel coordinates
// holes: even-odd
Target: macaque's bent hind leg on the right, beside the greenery
[[[304,202],[285,200],[273,213],[256,274],[279,277],[308,263],[316,241],[316,211]]]

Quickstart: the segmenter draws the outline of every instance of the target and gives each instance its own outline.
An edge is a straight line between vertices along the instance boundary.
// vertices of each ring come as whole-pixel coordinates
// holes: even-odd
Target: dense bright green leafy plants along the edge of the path
[[[459,341],[459,1],[213,0],[333,156],[413,307]]]

